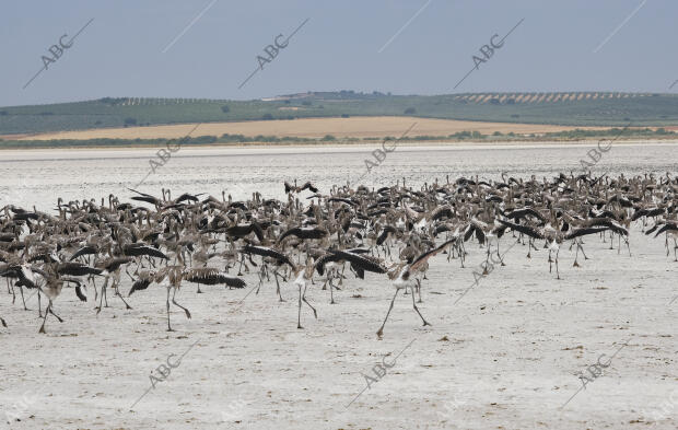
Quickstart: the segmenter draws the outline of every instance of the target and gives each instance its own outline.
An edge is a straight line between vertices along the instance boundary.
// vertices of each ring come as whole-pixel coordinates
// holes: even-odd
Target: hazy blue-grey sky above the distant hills
[[[340,90],[678,92],[678,84],[669,89],[678,80],[675,0],[0,4],[0,106],[105,96],[253,100]],[[60,39],[69,45],[83,26],[55,59],[49,48]],[[277,36],[284,45],[296,28],[274,58],[265,53]],[[486,56],[480,49],[491,40],[501,47]]]

